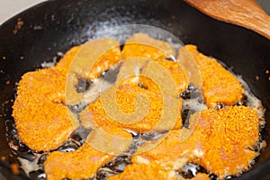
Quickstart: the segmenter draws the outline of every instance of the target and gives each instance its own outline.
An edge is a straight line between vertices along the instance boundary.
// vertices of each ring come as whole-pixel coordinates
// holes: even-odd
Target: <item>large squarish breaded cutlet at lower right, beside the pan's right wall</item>
[[[202,111],[199,123],[207,143],[196,162],[220,177],[247,170],[258,156],[251,150],[258,140],[258,119],[257,112],[245,106]]]

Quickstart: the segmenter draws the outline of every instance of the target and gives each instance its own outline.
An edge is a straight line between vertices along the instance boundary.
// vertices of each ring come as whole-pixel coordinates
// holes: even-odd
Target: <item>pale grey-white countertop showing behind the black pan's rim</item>
[[[44,1],[46,0],[0,0],[0,24],[15,14]],[[267,14],[270,14],[270,0],[257,0],[257,2],[261,4]]]

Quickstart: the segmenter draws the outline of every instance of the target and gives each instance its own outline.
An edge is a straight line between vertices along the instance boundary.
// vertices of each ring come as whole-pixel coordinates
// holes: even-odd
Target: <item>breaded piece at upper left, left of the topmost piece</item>
[[[87,58],[84,58],[79,63],[73,64],[76,54],[84,48],[84,46],[87,46],[91,58],[96,58],[94,59],[95,64],[91,69],[85,69],[89,64],[89,59]],[[121,59],[120,43],[117,40],[105,38],[102,40],[88,41],[81,46],[70,49],[67,51],[65,57],[59,60],[57,67],[67,68],[80,78],[94,79],[100,76],[105,70],[108,70],[120,62]]]

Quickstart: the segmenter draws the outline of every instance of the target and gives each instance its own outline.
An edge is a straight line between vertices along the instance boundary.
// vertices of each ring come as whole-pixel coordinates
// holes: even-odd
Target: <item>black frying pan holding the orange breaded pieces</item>
[[[14,33],[18,18],[23,26]],[[266,107],[263,136],[270,145],[270,80],[266,74],[270,69],[270,40],[254,31],[213,20],[180,0],[49,1],[14,16],[0,27],[0,179],[28,179],[23,173],[12,173],[10,164],[17,159],[5,136],[6,126],[13,120],[15,85],[21,76],[40,67],[44,60],[52,60],[59,51],[98,38],[98,31],[134,23],[169,31],[244,76]],[[269,168],[270,146],[267,146],[255,166],[238,179],[270,179]]]

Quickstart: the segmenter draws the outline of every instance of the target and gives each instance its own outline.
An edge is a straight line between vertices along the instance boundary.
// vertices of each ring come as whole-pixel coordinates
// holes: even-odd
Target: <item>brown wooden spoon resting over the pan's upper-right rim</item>
[[[270,40],[270,16],[255,0],[184,0],[203,14],[257,31]]]

